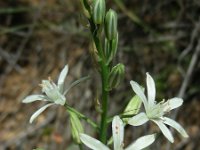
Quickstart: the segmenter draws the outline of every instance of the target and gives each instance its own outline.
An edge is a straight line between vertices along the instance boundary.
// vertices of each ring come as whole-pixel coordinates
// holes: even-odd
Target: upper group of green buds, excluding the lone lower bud
[[[85,16],[94,23],[95,28],[104,29],[103,53],[106,63],[110,64],[116,56],[118,46],[117,13],[112,9],[106,12],[105,0],[81,0],[81,4]]]

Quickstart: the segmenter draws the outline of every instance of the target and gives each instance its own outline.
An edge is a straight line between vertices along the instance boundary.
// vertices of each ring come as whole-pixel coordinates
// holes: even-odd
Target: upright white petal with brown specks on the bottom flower
[[[119,116],[115,116],[112,121],[112,133],[114,140],[114,149],[123,150],[124,124]]]

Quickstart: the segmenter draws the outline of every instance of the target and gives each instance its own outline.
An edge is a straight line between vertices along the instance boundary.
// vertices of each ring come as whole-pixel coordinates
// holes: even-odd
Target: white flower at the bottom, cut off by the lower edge
[[[112,121],[112,134],[114,141],[114,150],[123,150],[124,148],[124,124],[119,116],[115,116]],[[86,135],[80,134],[81,141],[93,150],[110,150],[109,147],[101,143],[100,141]],[[152,144],[155,140],[155,134],[143,136],[133,142],[130,146],[128,146],[125,150],[141,150],[150,144]]]

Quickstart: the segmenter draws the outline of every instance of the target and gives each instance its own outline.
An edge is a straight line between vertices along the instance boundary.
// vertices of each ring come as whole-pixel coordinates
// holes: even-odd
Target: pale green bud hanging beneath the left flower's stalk
[[[80,140],[79,134],[84,132],[82,124],[81,124],[78,116],[75,113],[69,111],[69,114],[70,114],[70,125],[71,125],[72,138],[77,144],[80,144],[81,140]]]

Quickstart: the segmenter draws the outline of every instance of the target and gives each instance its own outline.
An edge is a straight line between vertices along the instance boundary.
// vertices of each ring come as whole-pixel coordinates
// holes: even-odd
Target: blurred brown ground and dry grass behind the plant
[[[0,149],[70,149],[73,144],[64,108],[49,108],[29,124],[31,114],[43,103],[21,103],[25,96],[40,92],[42,79],[57,80],[65,64],[70,67],[68,84],[85,75],[92,77],[73,88],[67,102],[98,119],[94,104],[100,92],[96,88],[99,76],[90,59],[90,33],[81,24],[79,3],[0,1]],[[175,133],[176,144],[171,148],[160,136],[151,148],[199,150],[200,1],[107,0],[109,7],[118,12],[119,19],[115,62],[126,66],[124,81],[110,96],[110,115],[122,111],[133,96],[129,81],[144,85],[149,72],[156,81],[158,100],[184,97],[176,118],[190,135],[185,140]],[[147,128],[128,127],[125,145],[146,134]],[[93,133],[87,125],[85,130]]]

